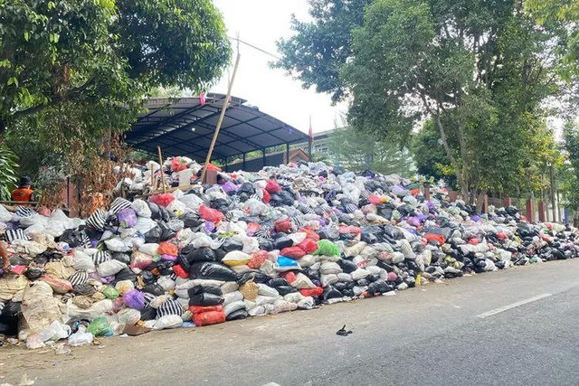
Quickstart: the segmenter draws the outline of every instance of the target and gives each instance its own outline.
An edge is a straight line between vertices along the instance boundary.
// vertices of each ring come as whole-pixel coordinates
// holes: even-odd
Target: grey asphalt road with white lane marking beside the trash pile
[[[0,383],[577,385],[578,273],[556,261],[71,354],[0,349]]]

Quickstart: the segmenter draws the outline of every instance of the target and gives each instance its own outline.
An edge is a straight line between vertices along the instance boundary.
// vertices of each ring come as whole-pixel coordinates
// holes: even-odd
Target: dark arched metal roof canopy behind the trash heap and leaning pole
[[[184,155],[204,163],[213,139],[225,95],[199,98],[148,99],[146,111],[138,116],[126,142],[135,148],[163,155]],[[258,108],[232,97],[215,143],[213,160],[224,160],[271,146],[307,142],[308,136]]]

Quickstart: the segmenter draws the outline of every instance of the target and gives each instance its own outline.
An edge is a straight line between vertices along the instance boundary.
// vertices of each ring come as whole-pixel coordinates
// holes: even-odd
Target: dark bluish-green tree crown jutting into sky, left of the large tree
[[[281,39],[280,61],[274,67],[283,69],[308,89],[332,94],[337,102],[346,96],[339,68],[352,55],[352,30],[364,22],[364,8],[372,0],[309,0],[312,22],[291,18],[295,34]]]

